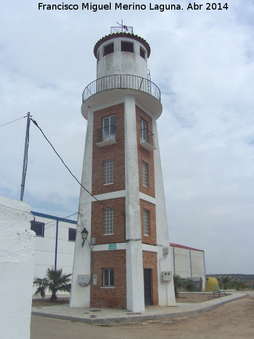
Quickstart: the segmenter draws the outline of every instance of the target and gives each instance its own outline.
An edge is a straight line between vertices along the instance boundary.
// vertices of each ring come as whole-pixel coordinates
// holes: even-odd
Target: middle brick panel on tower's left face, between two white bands
[[[91,208],[91,237],[96,237],[96,244],[124,242],[124,218],[120,211],[125,210],[125,197],[103,200],[102,202],[115,209],[114,234],[103,234],[103,209],[106,207],[100,202],[94,201]]]

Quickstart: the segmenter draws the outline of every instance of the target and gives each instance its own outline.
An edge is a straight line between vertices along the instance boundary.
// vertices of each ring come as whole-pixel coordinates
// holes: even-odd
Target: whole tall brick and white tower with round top
[[[83,92],[82,184],[99,201],[81,188],[71,307],[175,305],[156,128],[161,94],[147,75],[150,46],[130,29],[96,43],[97,80]]]

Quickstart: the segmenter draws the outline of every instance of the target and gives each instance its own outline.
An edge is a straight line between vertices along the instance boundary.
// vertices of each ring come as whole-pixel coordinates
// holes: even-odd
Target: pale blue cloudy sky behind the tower
[[[146,10],[115,10],[111,2],[111,11],[93,12],[78,0],[64,4],[79,9],[2,2],[0,125],[29,111],[81,179],[86,121],[80,107],[83,89],[96,79],[93,46],[123,20],[150,44],[151,80],[162,91],[157,122],[170,241],[204,250],[206,273],[253,274],[253,0],[231,0],[228,10],[206,10],[206,2],[187,10],[182,0],[183,10],[164,12],[141,1],[135,4]],[[151,7],[156,4],[166,3]],[[14,199],[25,128],[25,118],[0,128],[0,194]],[[66,217],[77,212],[79,191],[31,123],[24,201],[31,210]]]

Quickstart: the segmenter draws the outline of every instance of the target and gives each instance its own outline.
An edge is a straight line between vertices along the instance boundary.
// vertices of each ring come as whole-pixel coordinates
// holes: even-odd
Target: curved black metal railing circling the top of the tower
[[[99,93],[103,90],[115,88],[130,88],[140,90],[161,101],[160,89],[150,80],[137,75],[117,74],[108,75],[89,83],[89,85],[86,86],[83,91],[83,102],[93,94]]]

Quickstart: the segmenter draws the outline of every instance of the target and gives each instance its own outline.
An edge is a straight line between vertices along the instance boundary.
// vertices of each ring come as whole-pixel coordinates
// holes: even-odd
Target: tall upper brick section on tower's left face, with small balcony
[[[103,127],[103,118],[115,115],[116,144],[99,147],[97,129]],[[103,184],[103,162],[114,159],[114,183]],[[101,194],[125,189],[124,164],[124,103],[104,108],[93,113],[92,145],[92,194]]]

